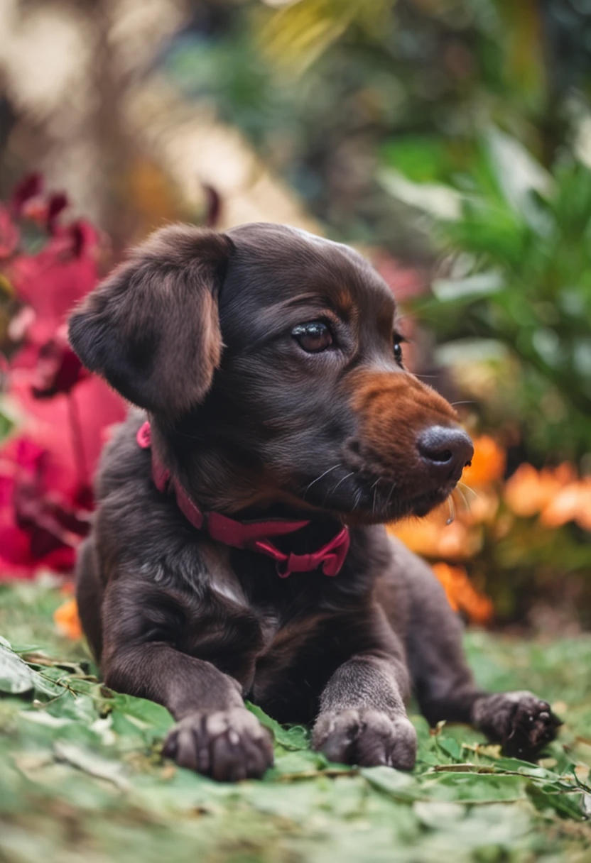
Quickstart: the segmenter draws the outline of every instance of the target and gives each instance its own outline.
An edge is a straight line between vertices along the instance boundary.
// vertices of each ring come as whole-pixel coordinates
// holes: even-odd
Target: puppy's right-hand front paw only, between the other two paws
[[[312,745],[331,761],[363,767],[387,765],[412,770],[416,731],[406,716],[381,710],[349,709],[323,713],[316,720]]]

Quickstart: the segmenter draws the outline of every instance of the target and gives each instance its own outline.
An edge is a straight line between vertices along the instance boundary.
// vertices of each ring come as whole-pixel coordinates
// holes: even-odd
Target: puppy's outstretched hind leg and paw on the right
[[[429,566],[410,551],[397,548],[396,557],[410,598],[406,623],[410,674],[429,723],[466,722],[501,743],[507,755],[534,759],[556,737],[561,724],[550,705],[531,692],[491,695],[480,690],[464,657],[460,620],[442,586]],[[388,614],[387,603],[383,604]]]

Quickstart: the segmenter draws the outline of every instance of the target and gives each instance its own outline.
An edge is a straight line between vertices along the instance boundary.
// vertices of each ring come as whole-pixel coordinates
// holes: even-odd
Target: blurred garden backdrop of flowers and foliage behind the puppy
[[[590,60],[591,0],[3,0],[0,579],[71,572],[124,413],[73,302],[168,221],[265,220],[373,261],[473,435],[391,530],[467,620],[591,627]]]

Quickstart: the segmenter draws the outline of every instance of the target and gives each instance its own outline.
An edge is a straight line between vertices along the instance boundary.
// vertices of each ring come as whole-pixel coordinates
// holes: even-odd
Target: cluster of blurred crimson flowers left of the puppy
[[[84,221],[57,224],[67,200],[41,192],[34,175],[10,206],[16,217],[34,217],[48,242],[37,255],[13,256],[5,269],[24,304],[10,328],[23,344],[8,375],[24,419],[22,437],[0,450],[0,577],[72,569],[107,428],[125,413],[123,400],[82,368],[67,343],[67,315],[98,280],[98,232]]]

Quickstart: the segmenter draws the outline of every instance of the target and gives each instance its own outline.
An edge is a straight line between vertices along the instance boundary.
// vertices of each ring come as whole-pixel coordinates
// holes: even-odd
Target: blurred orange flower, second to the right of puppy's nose
[[[569,462],[539,472],[531,464],[520,464],[505,483],[505,503],[516,515],[528,518],[548,507],[575,478],[575,468]]]

